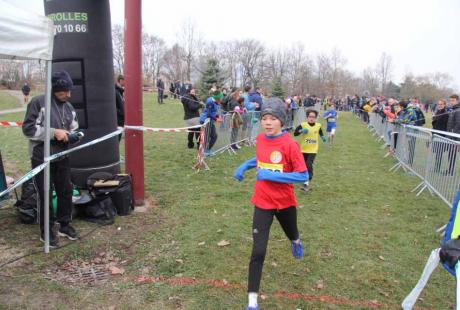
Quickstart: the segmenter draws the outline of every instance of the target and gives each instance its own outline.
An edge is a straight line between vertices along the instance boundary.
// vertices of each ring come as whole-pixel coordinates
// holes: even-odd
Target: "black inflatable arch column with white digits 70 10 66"
[[[83,143],[117,128],[112,31],[109,0],[45,0],[54,21],[53,71],[66,70],[74,81],[70,102],[77,111]],[[72,181],[84,187],[98,171],[118,173],[118,139],[114,137],[72,153]]]

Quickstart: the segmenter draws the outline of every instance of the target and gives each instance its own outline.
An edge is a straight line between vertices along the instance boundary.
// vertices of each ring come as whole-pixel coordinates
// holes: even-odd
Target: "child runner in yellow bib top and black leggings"
[[[311,189],[311,180],[313,179],[313,163],[316,154],[318,153],[318,140],[321,137],[323,142],[326,142],[326,137],[323,134],[321,124],[316,122],[318,112],[316,110],[307,110],[307,121],[301,123],[294,131],[294,136],[301,135],[300,149],[307,165],[309,180],[305,182],[301,190],[308,192]]]

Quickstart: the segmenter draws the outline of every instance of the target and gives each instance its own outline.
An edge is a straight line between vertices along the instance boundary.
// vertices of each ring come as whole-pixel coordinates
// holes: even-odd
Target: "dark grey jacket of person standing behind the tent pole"
[[[77,114],[70,102],[58,102],[51,98],[51,154],[65,151],[68,143],[57,141],[54,137],[55,129],[64,129],[69,132],[78,129]],[[29,139],[29,155],[31,158],[43,161],[45,140],[45,96],[32,98],[27,106],[22,132]]]

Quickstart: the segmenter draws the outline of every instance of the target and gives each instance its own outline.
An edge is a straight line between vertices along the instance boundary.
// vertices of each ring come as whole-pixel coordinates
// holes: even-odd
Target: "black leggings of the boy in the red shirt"
[[[253,244],[251,260],[249,262],[248,292],[256,293],[259,291],[260,280],[262,279],[262,268],[267,253],[268,237],[270,235],[270,227],[274,216],[280,223],[289,240],[293,241],[299,239],[296,207],[289,207],[281,211],[254,208],[254,216],[252,219]]]

